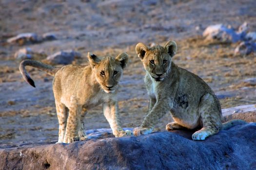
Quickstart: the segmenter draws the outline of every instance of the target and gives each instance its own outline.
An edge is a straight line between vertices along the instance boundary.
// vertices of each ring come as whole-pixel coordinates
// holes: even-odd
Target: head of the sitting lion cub
[[[159,45],[148,47],[143,43],[138,43],[135,49],[145,70],[159,82],[171,69],[172,57],[176,53],[177,45],[174,41],[167,42],[164,47]]]

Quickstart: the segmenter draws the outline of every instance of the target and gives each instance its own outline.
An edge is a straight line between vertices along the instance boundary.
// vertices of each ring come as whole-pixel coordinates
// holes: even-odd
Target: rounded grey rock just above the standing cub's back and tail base
[[[59,51],[52,55],[49,55],[46,60],[51,64],[71,64],[75,58],[81,58],[81,53],[78,51],[67,50]]]

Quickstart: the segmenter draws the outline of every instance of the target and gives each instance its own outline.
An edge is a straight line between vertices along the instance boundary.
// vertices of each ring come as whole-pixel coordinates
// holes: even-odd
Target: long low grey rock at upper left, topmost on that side
[[[39,43],[41,41],[42,38],[36,33],[22,33],[7,39],[8,43],[19,45]]]

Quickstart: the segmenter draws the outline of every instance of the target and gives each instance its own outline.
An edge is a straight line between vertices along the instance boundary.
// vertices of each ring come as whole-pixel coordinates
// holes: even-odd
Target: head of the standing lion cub
[[[126,53],[119,54],[116,58],[106,56],[98,58],[88,52],[88,60],[95,74],[96,80],[106,93],[114,93],[118,87],[118,82],[123,73],[123,68],[128,62]]]

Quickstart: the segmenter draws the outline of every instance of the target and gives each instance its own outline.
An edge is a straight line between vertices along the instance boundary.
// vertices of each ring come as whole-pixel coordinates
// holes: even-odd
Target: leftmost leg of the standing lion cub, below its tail
[[[64,104],[60,102],[56,101],[55,104],[56,104],[56,111],[57,111],[57,116],[59,120],[59,140],[57,143],[62,143],[64,140],[65,131],[66,131],[68,109]]]

